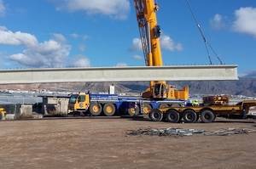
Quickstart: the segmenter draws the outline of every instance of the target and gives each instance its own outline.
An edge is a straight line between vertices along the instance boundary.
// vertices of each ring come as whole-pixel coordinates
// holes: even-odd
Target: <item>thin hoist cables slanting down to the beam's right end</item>
[[[214,50],[214,48],[212,48],[211,43],[207,41],[207,37],[205,36],[205,33],[204,33],[204,31],[203,31],[201,25],[199,24],[199,21],[197,20],[197,18],[196,18],[196,16],[195,16],[195,13],[194,13],[194,11],[193,11],[193,9],[192,9],[190,3],[189,3],[189,0],[185,0],[185,1],[186,1],[186,3],[187,3],[188,8],[189,8],[189,12],[191,13],[191,15],[192,15],[192,17],[193,17],[193,20],[195,21],[195,25],[196,25],[196,27],[198,28],[198,30],[199,30],[199,32],[200,32],[200,34],[201,34],[201,37],[202,37],[202,39],[203,39],[203,42],[204,42],[204,44],[205,44],[205,48],[206,48],[206,50],[207,50],[207,57],[208,57],[208,59],[209,59],[210,65],[212,65],[213,63],[212,63],[212,57],[211,57],[211,54],[210,54],[210,50],[209,50],[209,49],[211,49],[212,53],[216,56],[216,58],[218,59],[220,65],[224,65],[224,62],[222,61],[222,59],[220,59],[220,57],[218,56],[216,50]]]

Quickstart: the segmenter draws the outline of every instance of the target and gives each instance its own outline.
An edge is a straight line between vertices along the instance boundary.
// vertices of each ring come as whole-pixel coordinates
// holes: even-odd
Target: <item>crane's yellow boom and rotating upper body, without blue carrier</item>
[[[147,66],[163,66],[160,48],[160,26],[156,12],[159,7],[154,0],[134,0],[137,21],[143,44],[143,53]],[[150,82],[150,87],[143,93],[148,99],[189,99],[189,87],[177,90],[166,82]]]

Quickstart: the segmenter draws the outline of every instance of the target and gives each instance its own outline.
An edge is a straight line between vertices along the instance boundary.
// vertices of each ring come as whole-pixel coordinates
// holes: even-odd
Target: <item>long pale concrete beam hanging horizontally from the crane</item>
[[[0,70],[0,84],[237,80],[237,65]]]

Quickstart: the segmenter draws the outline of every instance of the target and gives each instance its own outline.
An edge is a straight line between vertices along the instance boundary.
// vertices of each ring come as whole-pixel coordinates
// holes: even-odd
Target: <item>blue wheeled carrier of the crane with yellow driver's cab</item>
[[[152,109],[186,104],[186,100],[144,99],[139,96],[117,94],[79,93],[73,94],[68,104],[69,112],[83,112],[90,115],[143,115]]]

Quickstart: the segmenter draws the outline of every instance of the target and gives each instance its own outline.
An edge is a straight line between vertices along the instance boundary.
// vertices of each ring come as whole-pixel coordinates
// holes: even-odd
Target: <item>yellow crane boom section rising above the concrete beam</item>
[[[161,31],[156,18],[158,5],[154,0],[134,0],[134,3],[146,65],[162,66]]]

